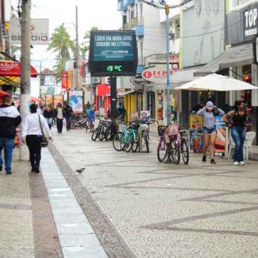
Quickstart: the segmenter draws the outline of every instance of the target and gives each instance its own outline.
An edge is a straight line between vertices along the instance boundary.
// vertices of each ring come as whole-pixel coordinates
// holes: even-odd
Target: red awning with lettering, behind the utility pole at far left
[[[21,63],[0,61],[0,76],[20,77]],[[37,70],[31,65],[31,77],[37,77]]]

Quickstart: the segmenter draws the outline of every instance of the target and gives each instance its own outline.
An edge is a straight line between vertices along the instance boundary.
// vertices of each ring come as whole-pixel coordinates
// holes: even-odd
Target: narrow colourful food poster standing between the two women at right
[[[222,121],[222,116],[217,116],[216,120],[217,137],[215,140],[215,156],[224,156],[226,145],[226,127],[225,123]]]

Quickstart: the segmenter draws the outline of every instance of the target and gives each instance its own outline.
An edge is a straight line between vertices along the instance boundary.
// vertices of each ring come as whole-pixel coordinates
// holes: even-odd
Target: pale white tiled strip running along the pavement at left
[[[42,154],[41,172],[47,188],[63,257],[107,258],[49,150],[43,149]]]

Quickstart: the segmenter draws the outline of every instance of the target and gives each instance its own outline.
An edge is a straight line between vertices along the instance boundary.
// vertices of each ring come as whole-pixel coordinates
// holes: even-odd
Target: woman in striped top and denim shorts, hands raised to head
[[[216,164],[214,160],[215,140],[217,137],[216,116],[224,115],[225,112],[214,106],[211,101],[208,101],[205,107],[197,111],[197,114],[203,117],[203,162],[206,162],[206,153],[210,145],[210,163]]]

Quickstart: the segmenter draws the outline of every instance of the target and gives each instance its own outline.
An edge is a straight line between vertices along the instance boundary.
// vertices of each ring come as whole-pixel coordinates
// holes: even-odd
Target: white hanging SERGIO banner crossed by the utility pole
[[[10,21],[11,44],[21,44],[21,28],[18,18],[11,18]],[[49,20],[31,19],[31,44],[48,45],[49,43]]]

